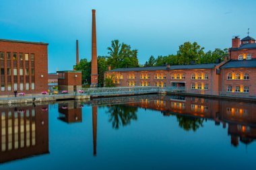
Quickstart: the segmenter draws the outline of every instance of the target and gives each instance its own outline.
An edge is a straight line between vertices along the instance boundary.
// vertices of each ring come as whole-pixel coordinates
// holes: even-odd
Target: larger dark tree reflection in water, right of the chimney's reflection
[[[137,108],[133,108],[127,105],[108,105],[109,122],[112,122],[112,126],[115,129],[119,129],[119,126],[126,126],[131,123],[131,120],[137,120]]]

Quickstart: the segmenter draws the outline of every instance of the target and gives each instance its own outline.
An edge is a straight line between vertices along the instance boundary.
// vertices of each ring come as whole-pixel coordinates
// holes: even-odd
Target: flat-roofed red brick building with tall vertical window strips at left
[[[0,40],[0,95],[48,89],[48,44]]]

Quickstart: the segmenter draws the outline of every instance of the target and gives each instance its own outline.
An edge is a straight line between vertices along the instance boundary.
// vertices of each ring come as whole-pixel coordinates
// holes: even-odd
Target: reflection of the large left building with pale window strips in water
[[[1,108],[0,163],[49,153],[48,105]]]

